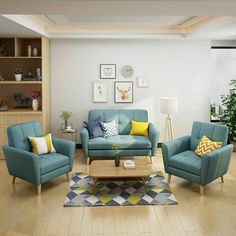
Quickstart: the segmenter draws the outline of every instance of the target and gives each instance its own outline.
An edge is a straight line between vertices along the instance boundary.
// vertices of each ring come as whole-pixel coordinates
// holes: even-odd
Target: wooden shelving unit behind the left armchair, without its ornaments
[[[0,158],[2,157],[2,145],[7,143],[6,129],[9,125],[39,120],[43,131],[49,131],[49,40],[41,38],[0,37],[0,46],[5,45],[7,55],[0,55],[0,75],[4,78],[0,81],[0,101],[8,102],[8,111],[0,111]],[[32,55],[28,56],[28,45],[31,45]],[[33,49],[37,48],[37,56],[33,56]],[[14,72],[16,68],[23,70],[22,80],[16,81]],[[24,78],[31,73],[36,75],[37,68],[41,71],[41,80],[28,81]],[[15,97],[27,98],[33,90],[41,92],[38,111],[29,108],[17,108],[21,106]]]

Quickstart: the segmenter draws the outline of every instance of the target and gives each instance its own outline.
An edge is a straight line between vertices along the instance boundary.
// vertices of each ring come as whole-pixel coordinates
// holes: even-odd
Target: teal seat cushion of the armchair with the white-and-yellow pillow
[[[41,174],[46,174],[60,167],[69,165],[69,158],[59,153],[50,153],[40,156]]]

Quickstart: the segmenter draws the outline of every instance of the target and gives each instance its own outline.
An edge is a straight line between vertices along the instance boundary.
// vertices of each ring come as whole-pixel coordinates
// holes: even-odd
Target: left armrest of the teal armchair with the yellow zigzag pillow
[[[173,141],[165,142],[162,144],[161,148],[165,171],[168,173],[169,159],[178,153],[190,149],[190,136],[184,136]]]

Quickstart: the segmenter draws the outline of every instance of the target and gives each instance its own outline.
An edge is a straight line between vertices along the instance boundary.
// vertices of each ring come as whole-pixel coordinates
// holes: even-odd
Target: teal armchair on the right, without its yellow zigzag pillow
[[[194,151],[202,136],[213,141],[223,142],[223,146],[203,157]],[[191,136],[184,136],[163,143],[162,154],[168,183],[171,175],[181,177],[200,185],[203,194],[204,186],[227,173],[233,151],[233,145],[227,144],[228,128],[225,125],[195,121]]]

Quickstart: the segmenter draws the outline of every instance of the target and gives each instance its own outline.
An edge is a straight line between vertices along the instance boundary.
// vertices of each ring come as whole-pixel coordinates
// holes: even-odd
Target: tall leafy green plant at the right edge
[[[224,108],[221,119],[229,128],[229,140],[234,145],[234,152],[236,152],[236,80],[231,80],[229,87],[229,93],[221,96]]]

